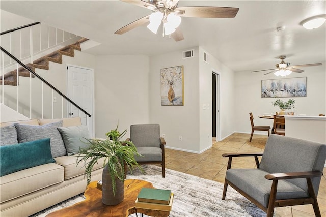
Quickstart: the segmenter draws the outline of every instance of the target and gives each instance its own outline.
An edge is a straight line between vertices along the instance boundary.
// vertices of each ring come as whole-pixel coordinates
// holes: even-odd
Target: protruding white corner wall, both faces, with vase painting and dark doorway
[[[212,144],[212,71],[221,74],[222,139],[234,132],[234,72],[211,55],[209,64],[205,63],[203,48],[184,50],[190,49],[194,49],[193,58],[182,59],[182,50],[150,58],[150,122],[160,124],[167,147],[201,153]],[[181,65],[184,67],[184,106],[161,106],[160,69]]]

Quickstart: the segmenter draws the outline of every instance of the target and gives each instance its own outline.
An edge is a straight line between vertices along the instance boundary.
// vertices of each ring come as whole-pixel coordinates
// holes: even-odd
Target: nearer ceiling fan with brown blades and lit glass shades
[[[124,34],[135,27],[148,24],[153,33],[163,23],[164,35],[171,35],[175,41],[183,40],[183,34],[179,28],[181,17],[200,17],[200,18],[234,18],[239,8],[229,7],[205,7],[189,6],[178,7],[179,0],[121,0],[122,2],[137,5],[153,11],[138,20],[120,28],[115,34]],[[163,36],[164,36],[163,35]]]

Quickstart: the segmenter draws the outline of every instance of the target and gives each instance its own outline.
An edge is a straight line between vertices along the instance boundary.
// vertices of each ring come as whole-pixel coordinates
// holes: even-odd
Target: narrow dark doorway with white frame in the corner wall
[[[220,75],[212,71],[212,140],[220,141]]]

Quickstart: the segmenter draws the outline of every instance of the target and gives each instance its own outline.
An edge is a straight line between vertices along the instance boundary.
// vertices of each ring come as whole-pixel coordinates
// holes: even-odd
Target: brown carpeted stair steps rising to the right
[[[62,64],[62,55],[71,56],[74,57],[74,50],[81,51],[80,43],[83,43],[87,41],[88,39],[82,38],[79,39],[77,42],[67,45],[57,51],[54,51],[46,56],[43,56],[41,58],[38,58],[33,61],[33,63],[26,64],[32,71],[35,71],[36,68],[38,69],[49,69],[49,61],[53,63]],[[30,77],[30,72],[26,70],[24,67],[18,68],[18,76],[22,77]],[[35,76],[32,74],[32,77]],[[19,83],[17,82],[17,70],[10,71],[3,76],[0,76],[0,85],[3,83],[4,79],[4,85],[11,85],[11,86],[17,86]]]

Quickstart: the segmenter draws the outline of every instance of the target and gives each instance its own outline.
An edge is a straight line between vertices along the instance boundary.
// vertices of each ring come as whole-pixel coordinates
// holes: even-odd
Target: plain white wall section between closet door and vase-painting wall
[[[144,55],[96,56],[96,137],[116,128],[149,123],[149,57]]]

